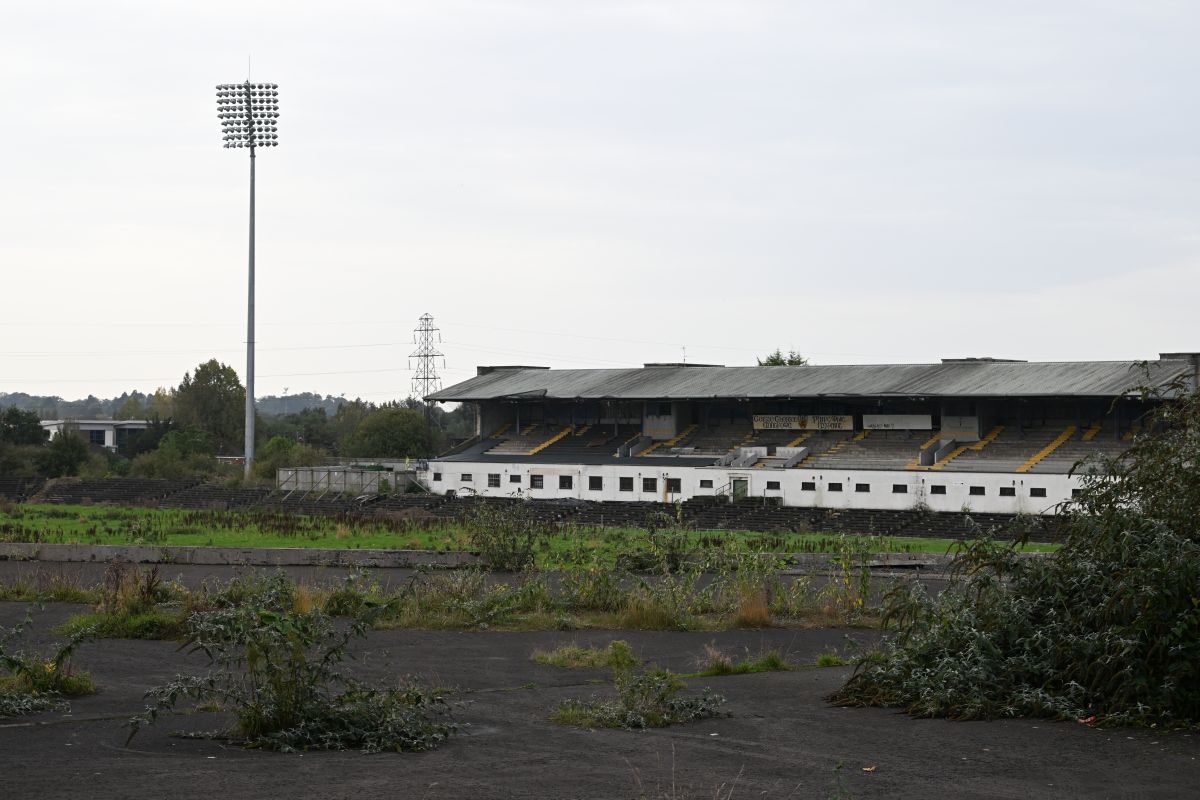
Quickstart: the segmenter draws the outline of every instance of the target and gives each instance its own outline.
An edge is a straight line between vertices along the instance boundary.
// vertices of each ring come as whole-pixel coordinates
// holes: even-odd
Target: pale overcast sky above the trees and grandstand
[[[0,392],[1200,349],[1195,2],[8,2]]]

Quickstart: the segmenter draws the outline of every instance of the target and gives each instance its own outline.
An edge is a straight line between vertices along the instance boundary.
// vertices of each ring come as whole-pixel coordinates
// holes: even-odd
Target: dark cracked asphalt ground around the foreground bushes
[[[24,603],[0,603],[11,625]],[[35,614],[31,644],[83,607]],[[689,679],[727,698],[728,717],[646,732],[556,726],[565,698],[611,688],[598,669],[529,660],[565,643],[630,643],[647,661],[695,669],[706,644],[734,655],[779,649],[793,663],[845,652],[862,630],[378,631],[355,646],[350,670],[367,681],[419,675],[456,688],[466,727],[428,753],[245,751],[173,730],[218,728],[220,714],[168,717],[126,747],[125,720],[143,693],[202,668],[172,642],[84,645],[79,668],[100,693],[70,715],[0,720],[2,798],[1192,798],[1200,736],[1093,729],[1038,720],[913,720],[888,709],[844,709],[824,698],[848,668]],[[839,768],[839,765],[841,765]],[[865,771],[865,768],[874,768]]]

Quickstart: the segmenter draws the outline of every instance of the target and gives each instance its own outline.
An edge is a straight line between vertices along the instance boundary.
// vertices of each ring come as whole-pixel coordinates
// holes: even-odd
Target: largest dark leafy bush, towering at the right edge
[[[1163,404],[1150,428],[1082,477],[1060,551],[1020,558],[983,537],[938,597],[892,595],[895,636],[835,702],[1200,724],[1200,398]]]

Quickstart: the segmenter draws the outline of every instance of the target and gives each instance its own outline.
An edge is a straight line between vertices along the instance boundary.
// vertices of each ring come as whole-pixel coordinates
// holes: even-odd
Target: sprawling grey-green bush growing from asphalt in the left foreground
[[[338,630],[320,612],[240,606],[190,620],[192,651],[210,660],[202,675],[151,690],[146,711],[130,721],[132,739],[181,699],[216,702],[233,712],[233,730],[214,734],[242,745],[296,750],[416,751],[437,747],[456,726],[445,699],[415,686],[371,688],[338,664],[372,615]]]

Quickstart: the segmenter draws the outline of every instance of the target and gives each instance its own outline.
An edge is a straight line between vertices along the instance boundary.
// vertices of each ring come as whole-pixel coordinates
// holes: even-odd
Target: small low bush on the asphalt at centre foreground
[[[614,672],[614,699],[564,700],[551,720],[583,728],[664,728],[721,716],[724,697],[707,688],[698,696],[679,697],[683,681],[665,669]]]

